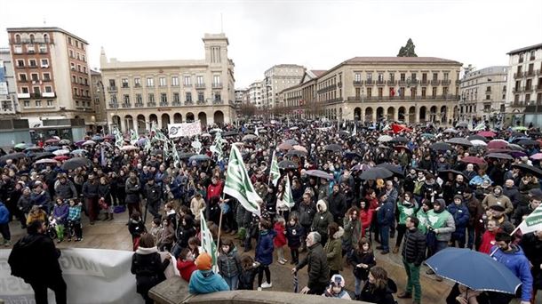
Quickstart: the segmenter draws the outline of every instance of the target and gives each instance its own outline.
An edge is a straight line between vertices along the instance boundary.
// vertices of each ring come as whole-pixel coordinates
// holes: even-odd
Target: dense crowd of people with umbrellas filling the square
[[[132,273],[147,302],[148,290],[164,279],[160,274],[170,263],[158,252],[171,252],[190,292],[252,290],[254,281],[258,290],[270,288],[269,266],[276,261],[290,262],[293,276],[307,267],[301,293],[420,303],[421,265],[449,246],[490,254],[522,281],[517,293],[522,303],[534,302],[542,288],[542,231],[522,235],[515,227],[542,201],[537,141],[542,134],[480,131],[431,124],[392,129],[316,121],[256,123],[210,127],[197,139],[172,140],[170,148],[165,142],[170,140],[155,131],[141,136],[145,144],[139,147],[130,140],[118,145],[114,136],[89,136],[85,140],[93,143],[58,147],[90,160],[73,167],[66,165],[66,156],[36,160],[44,153],[40,148],[61,146],[60,139],[47,140],[42,147],[22,149],[23,156],[9,157],[18,152],[13,148],[0,158],[0,232],[10,246],[8,222],[19,220],[34,235],[39,230],[58,243],[77,242],[83,239],[82,213],[94,225],[127,209]],[[218,134],[224,138],[223,156],[212,148]],[[259,216],[224,194],[232,145],[240,149],[261,197]],[[179,161],[170,149],[178,151]],[[276,183],[270,177],[274,156],[281,173]],[[286,191],[294,204],[288,204]],[[200,247],[202,220],[219,244],[216,265]],[[403,291],[387,276],[386,265],[377,265],[376,251],[401,256],[408,277]],[[344,271],[353,272],[353,292],[345,290]],[[442,280],[430,269],[427,274]],[[457,287],[450,302],[514,298]]]

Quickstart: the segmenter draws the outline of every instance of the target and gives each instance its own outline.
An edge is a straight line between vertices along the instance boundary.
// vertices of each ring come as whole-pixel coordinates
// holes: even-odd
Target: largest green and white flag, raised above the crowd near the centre
[[[235,197],[244,209],[260,215],[259,203],[262,201],[252,186],[251,178],[243,163],[239,149],[232,145],[227,163],[226,184],[224,193]]]

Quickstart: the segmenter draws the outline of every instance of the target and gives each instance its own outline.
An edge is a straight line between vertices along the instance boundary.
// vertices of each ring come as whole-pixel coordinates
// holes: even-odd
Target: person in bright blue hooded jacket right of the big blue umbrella
[[[532,275],[530,273],[530,262],[523,253],[522,247],[512,244],[512,236],[506,232],[498,232],[495,235],[495,242],[490,249],[490,256],[493,260],[497,260],[499,263],[510,269],[520,281],[522,286],[518,289],[518,293],[521,290],[521,304],[529,304],[530,297],[532,295]],[[493,303],[508,303],[514,298],[512,294],[491,292],[490,302]]]

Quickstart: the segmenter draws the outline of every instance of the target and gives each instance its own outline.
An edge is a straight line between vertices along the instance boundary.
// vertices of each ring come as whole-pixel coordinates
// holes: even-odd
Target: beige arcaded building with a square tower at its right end
[[[195,120],[233,122],[234,62],[227,57],[227,37],[205,34],[203,45],[203,60],[108,60],[102,50],[109,126],[145,132],[151,122],[160,128]]]

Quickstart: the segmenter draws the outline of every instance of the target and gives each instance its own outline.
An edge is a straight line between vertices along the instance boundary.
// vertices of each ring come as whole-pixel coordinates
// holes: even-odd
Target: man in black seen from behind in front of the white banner
[[[49,236],[43,220],[28,223],[28,235],[21,238],[12,249],[8,264],[12,276],[22,278],[34,290],[36,304],[46,304],[47,289],[54,292],[58,304],[67,303],[67,286],[60,269],[60,250]],[[39,259],[36,259],[39,252]]]

